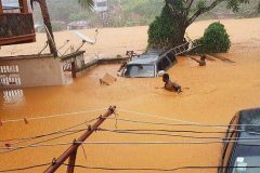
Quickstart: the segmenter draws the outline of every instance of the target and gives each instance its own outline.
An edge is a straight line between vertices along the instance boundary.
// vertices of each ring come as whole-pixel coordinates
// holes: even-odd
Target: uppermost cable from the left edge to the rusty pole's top
[[[66,116],[73,116],[73,115],[80,115],[80,114],[89,114],[89,112],[95,112],[100,110],[106,110],[105,108],[100,108],[100,109],[93,109],[93,110],[82,110],[82,111],[75,111],[75,112],[68,112],[68,114],[58,114],[58,115],[52,115],[52,116],[44,116],[44,117],[32,117],[32,118],[27,118],[27,120],[40,120],[40,119],[49,119],[49,118],[57,118],[57,117],[66,117]],[[24,121],[24,119],[11,119],[11,120],[2,120],[2,123],[8,123],[8,122],[20,122]]]

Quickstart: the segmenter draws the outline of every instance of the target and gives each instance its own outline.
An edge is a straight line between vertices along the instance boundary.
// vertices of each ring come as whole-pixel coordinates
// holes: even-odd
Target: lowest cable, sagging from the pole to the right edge
[[[157,172],[174,172],[180,170],[210,170],[210,169],[260,169],[260,165],[256,167],[180,167],[174,169],[153,169],[153,168],[106,168],[106,167],[86,167],[86,165],[72,165],[67,163],[62,163],[66,167],[81,168],[88,170],[103,170],[103,171],[157,171]]]

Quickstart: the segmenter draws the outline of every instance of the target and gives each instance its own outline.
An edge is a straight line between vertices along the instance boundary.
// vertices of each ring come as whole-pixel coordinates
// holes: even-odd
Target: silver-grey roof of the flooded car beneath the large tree
[[[162,50],[152,50],[148,51],[139,57],[133,58],[131,62],[128,63],[128,65],[133,64],[155,64],[159,58],[160,54],[162,53]]]

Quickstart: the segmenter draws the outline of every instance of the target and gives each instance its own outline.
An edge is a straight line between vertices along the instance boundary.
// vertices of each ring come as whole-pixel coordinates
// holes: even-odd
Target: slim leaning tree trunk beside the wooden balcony
[[[55,41],[54,41],[54,36],[53,36],[53,31],[52,31],[52,26],[51,26],[51,18],[50,18],[50,14],[48,11],[47,2],[46,2],[46,0],[38,0],[38,2],[40,4],[43,23],[48,29],[47,30],[47,39],[48,39],[50,52],[56,57],[57,50],[56,50],[56,45],[55,45]]]

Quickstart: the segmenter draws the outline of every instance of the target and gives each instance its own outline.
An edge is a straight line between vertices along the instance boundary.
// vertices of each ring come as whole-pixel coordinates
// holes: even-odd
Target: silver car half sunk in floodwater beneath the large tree
[[[120,76],[127,78],[155,78],[176,63],[177,58],[172,52],[150,51],[127,63]]]

